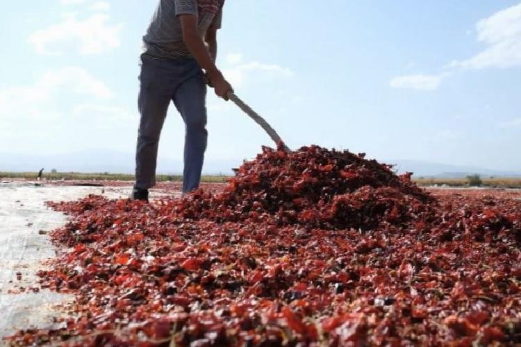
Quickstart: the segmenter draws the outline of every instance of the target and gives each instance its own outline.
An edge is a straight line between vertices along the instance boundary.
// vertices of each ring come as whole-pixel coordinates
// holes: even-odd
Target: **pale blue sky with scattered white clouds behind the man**
[[[157,1],[4,1],[0,155],[133,153]],[[519,0],[227,0],[218,41],[236,94],[292,149],[521,172]],[[272,146],[213,91],[207,105],[206,160]],[[183,134],[172,106],[160,160],[181,160]]]

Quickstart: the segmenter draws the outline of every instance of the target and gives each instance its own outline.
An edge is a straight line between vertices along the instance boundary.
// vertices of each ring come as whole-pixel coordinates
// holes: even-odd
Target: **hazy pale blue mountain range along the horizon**
[[[450,164],[424,162],[422,160],[382,160],[396,164],[399,173],[413,172],[414,177],[460,178],[470,174],[481,176],[521,177],[521,172],[501,171],[483,167],[468,167]],[[204,164],[204,174],[233,174],[231,169],[242,164],[242,160],[213,160]],[[80,151],[56,155],[30,155],[0,153],[0,171],[38,171],[42,167],[49,172],[56,169],[61,172],[110,172],[118,174],[133,173],[134,154],[117,151]],[[160,157],[158,173],[179,174],[183,171],[183,162]]]

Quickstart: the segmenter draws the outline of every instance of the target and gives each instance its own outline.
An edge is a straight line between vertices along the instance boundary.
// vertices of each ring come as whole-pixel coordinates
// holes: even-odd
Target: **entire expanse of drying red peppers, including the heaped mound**
[[[15,345],[521,343],[521,193],[431,189],[364,155],[264,149],[226,185],[50,203],[72,294]]]

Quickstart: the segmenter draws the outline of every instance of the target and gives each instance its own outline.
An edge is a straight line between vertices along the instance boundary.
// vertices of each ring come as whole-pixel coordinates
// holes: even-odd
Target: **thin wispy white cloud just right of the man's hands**
[[[263,64],[261,62],[245,62],[223,69],[223,74],[233,87],[241,87],[251,74],[263,72],[263,76],[293,76],[293,71],[287,67],[276,64]]]

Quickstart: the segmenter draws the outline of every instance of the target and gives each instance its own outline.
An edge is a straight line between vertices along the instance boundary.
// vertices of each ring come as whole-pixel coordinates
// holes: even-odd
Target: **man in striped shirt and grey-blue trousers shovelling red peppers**
[[[231,85],[215,66],[224,0],[160,0],[143,41],[141,114],[133,198],[156,184],[158,143],[170,101],[185,122],[183,193],[199,187],[206,151],[206,83],[228,99]]]

